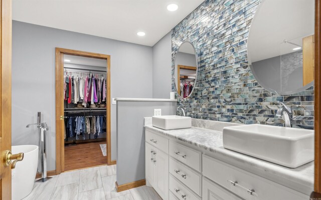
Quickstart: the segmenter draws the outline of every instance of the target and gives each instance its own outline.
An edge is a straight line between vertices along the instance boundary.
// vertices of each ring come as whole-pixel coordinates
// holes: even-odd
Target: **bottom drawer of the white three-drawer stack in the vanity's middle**
[[[180,200],[199,200],[201,199],[193,193],[187,186],[170,174],[170,190]]]

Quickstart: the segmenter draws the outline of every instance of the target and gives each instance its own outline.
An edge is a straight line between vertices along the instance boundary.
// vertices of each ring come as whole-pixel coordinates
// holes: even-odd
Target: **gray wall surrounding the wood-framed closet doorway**
[[[111,97],[152,97],[152,47],[13,21],[12,144],[37,144],[26,124],[43,114],[48,170],[56,168],[55,47],[111,55]],[[116,105],[111,105],[111,158],[116,159]]]

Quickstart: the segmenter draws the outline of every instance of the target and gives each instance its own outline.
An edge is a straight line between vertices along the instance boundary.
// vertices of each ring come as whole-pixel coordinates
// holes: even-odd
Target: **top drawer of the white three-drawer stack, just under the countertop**
[[[184,164],[194,168],[197,171],[201,171],[201,152],[183,146],[182,144],[170,141],[170,152],[169,154],[183,162]]]

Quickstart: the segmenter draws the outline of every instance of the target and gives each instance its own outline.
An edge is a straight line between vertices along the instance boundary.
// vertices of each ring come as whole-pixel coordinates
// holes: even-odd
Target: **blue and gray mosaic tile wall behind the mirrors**
[[[284,126],[275,116],[284,101],[293,108],[293,127],[313,129],[313,87],[275,95],[254,78],[247,61],[247,37],[260,0],[205,0],[172,33],[172,91],[175,55],[184,41],[199,49],[198,78],[192,95],[179,102],[192,118]],[[181,114],[181,113],[178,113]]]

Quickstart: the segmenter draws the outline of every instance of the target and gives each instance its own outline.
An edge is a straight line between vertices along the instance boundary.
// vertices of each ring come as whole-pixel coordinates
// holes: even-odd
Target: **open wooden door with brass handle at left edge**
[[[4,151],[11,150],[11,56],[12,56],[12,1],[0,0],[0,199],[11,199],[11,166],[4,165]]]

